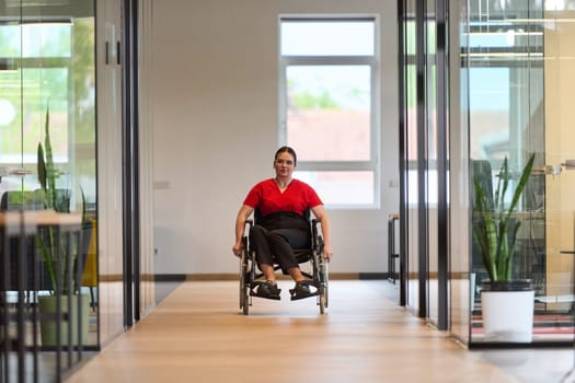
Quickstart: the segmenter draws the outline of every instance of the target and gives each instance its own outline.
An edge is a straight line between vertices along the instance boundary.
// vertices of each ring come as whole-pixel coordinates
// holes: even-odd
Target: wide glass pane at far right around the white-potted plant
[[[504,163],[508,163],[511,190],[534,154],[533,171],[511,214],[511,221],[520,223],[511,278],[529,279],[534,286],[532,341],[572,341],[575,204],[568,196],[575,185],[571,171],[575,162],[570,162],[575,159],[575,141],[568,127],[575,115],[567,100],[575,85],[570,43],[575,36],[575,2],[481,0],[468,4],[460,13],[460,46],[470,177],[476,177],[496,198]],[[508,207],[511,193],[503,196]],[[470,241],[476,281],[471,294],[471,344],[486,341],[480,292],[487,268],[476,243]]]

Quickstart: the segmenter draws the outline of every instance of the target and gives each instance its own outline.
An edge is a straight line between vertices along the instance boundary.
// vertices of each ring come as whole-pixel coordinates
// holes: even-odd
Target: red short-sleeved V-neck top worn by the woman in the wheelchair
[[[255,184],[243,204],[254,209],[258,208],[263,217],[278,211],[291,211],[303,216],[306,209],[323,205],[315,190],[304,182],[291,179],[281,193],[274,178]]]

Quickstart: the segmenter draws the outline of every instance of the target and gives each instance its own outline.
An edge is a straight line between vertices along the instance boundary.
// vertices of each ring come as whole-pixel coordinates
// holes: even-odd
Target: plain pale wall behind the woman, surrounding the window
[[[285,13],[380,18],[381,209],[329,210],[330,270],[387,270],[388,214],[399,207],[394,2],[162,0],[153,2],[153,45],[145,47],[154,57],[158,274],[238,272],[235,213],[250,187],[273,175],[278,148],[277,24]]]

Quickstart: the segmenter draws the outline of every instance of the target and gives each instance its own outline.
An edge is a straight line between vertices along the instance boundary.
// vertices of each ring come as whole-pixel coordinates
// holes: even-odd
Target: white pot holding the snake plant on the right
[[[531,343],[534,291],[482,291],[486,341]]]

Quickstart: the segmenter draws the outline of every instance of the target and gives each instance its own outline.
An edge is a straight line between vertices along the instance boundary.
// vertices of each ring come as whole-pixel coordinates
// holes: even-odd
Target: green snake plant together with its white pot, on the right
[[[534,154],[531,154],[509,204],[505,198],[510,181],[507,158],[503,161],[493,196],[479,175],[473,175],[473,241],[488,275],[481,291],[485,340],[530,343],[532,338],[533,287],[531,280],[515,279],[513,267],[517,233],[521,225],[515,210],[533,162]]]

